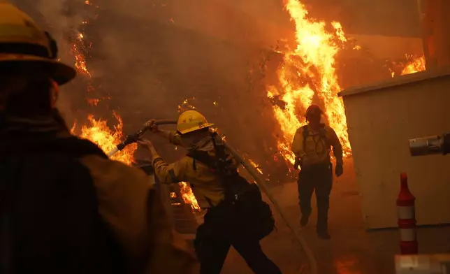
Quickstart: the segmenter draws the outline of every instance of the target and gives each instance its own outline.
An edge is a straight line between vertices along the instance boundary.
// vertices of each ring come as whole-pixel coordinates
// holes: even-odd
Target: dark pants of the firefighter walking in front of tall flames
[[[315,191],[317,199],[317,232],[328,231],[328,207],[333,166],[331,163],[302,167],[298,174],[298,199],[303,216],[311,215],[311,197]]]

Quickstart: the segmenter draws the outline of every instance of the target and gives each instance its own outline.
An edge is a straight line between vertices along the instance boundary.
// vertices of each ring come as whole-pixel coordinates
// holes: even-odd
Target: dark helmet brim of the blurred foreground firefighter
[[[36,66],[40,73],[48,74],[58,85],[64,85],[77,75],[75,69],[57,60],[35,57],[32,55],[0,55],[0,66],[3,68],[19,68],[24,64]],[[13,72],[14,69],[11,71]]]

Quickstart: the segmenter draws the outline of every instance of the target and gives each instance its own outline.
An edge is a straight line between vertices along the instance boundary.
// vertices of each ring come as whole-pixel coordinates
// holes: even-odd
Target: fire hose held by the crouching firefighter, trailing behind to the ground
[[[174,120],[157,120],[154,123],[157,125],[177,124],[177,122]],[[142,129],[140,129],[140,131],[136,132],[136,134],[131,134],[129,136],[126,136],[126,139],[122,143],[119,143],[119,145],[117,145],[117,147],[113,151],[108,153],[108,157],[111,157],[116,152],[123,150],[124,147],[126,147],[126,145],[135,143],[136,140],[140,136],[142,136],[145,133],[145,131],[147,131],[148,129],[149,129],[149,127],[143,127]],[[288,226],[289,230],[291,230],[291,232],[293,233],[293,236],[295,236],[297,243],[300,245],[302,250],[305,252],[308,261],[310,261],[311,274],[317,274],[317,260],[314,256],[314,253],[312,252],[311,248],[307,244],[307,241],[305,240],[305,238],[303,238],[303,236],[301,236],[300,233],[296,233],[295,229],[293,228],[294,226],[291,224],[291,222],[289,222],[288,218],[286,217],[286,214],[282,210],[280,204],[277,203],[277,201],[275,200],[275,197],[270,192],[270,189],[268,188],[266,183],[263,180],[261,180],[261,178],[259,178],[259,173],[258,173],[258,171],[256,171],[256,168],[254,168],[251,164],[249,164],[247,160],[245,160],[243,157],[241,157],[240,154],[235,149],[233,149],[233,147],[228,145],[228,143],[226,143],[225,141],[224,141],[224,146],[225,146],[226,150],[228,150],[228,152],[230,152],[231,155],[240,164],[242,164],[242,166],[244,166],[244,168],[248,171],[248,173],[250,175],[252,175],[252,177],[256,181],[256,184],[261,188],[261,190],[264,192],[264,194],[266,194],[267,198],[270,200],[270,203],[273,204],[275,210],[277,210],[278,214],[280,214],[280,216],[282,217],[282,219]]]

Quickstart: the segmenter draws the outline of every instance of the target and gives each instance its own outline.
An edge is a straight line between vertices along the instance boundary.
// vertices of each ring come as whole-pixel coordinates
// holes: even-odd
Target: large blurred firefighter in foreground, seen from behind
[[[55,103],[75,74],[0,0],[0,273],[194,273],[145,173],[67,129]]]

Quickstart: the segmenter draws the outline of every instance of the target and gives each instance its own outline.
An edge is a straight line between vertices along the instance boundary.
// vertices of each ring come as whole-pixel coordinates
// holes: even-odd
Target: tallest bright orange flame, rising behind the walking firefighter
[[[270,99],[277,99],[283,104],[274,103],[275,118],[280,124],[282,139],[277,147],[286,161],[292,164],[295,157],[290,143],[296,130],[305,124],[305,110],[316,97],[324,104],[324,113],[330,127],[339,137],[344,156],[351,154],[347,134],[347,121],[342,99],[337,97],[341,88],[335,72],[335,55],[340,48],[338,42],[346,42],[342,26],[332,22],[334,32],[326,31],[324,22],[307,18],[307,10],[298,0],[287,0],[286,10],[291,21],[296,25],[295,50],[284,54],[283,65],[278,69],[280,87],[268,87]]]

